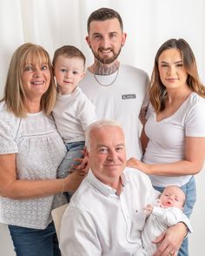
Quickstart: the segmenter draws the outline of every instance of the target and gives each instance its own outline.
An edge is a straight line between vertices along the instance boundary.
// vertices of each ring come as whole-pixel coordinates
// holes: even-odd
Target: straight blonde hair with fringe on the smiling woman
[[[42,46],[37,44],[23,44],[14,52],[10,67],[7,73],[4,95],[1,101],[4,101],[7,110],[13,112],[18,118],[27,116],[25,106],[23,104],[26,95],[23,90],[23,71],[26,63],[32,64],[48,64],[50,70],[50,86],[41,98],[41,109],[49,116],[56,102],[56,84],[53,77],[50,56]]]

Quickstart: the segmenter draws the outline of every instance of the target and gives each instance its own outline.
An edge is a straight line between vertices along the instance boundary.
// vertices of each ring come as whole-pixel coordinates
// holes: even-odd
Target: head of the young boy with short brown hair
[[[84,77],[83,52],[73,45],[64,45],[55,51],[52,64],[58,91],[61,94],[73,92]]]

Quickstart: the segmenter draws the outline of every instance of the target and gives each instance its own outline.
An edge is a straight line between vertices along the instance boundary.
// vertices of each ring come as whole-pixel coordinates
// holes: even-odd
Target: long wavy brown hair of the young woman
[[[155,55],[155,65],[152,72],[152,77],[150,81],[150,102],[153,105],[155,112],[158,113],[159,111],[163,111],[165,108],[164,98],[167,94],[166,87],[162,84],[160,74],[159,74],[159,67],[158,61],[159,57],[161,56],[163,51],[169,49],[176,49],[181,52],[182,61],[186,71],[188,72],[187,84],[188,87],[195,91],[198,95],[205,98],[205,87],[200,82],[200,78],[197,71],[197,66],[195,62],[195,55],[191,50],[189,44],[182,38],[180,39],[169,39],[166,41],[162,46],[159,48]]]

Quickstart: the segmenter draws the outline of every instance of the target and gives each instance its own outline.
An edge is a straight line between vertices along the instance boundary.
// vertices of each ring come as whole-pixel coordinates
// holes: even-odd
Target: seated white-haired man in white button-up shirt
[[[124,133],[115,121],[90,125],[86,145],[90,170],[63,215],[63,255],[146,255],[143,207],[153,203],[158,192],[145,174],[125,167]],[[155,255],[174,255],[186,231],[182,223],[171,227]]]

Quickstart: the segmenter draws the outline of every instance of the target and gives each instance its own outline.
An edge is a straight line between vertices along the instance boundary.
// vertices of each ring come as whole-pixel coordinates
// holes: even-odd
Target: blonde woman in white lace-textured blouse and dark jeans
[[[56,179],[66,152],[50,118],[56,85],[47,51],[15,51],[0,104],[0,222],[8,224],[17,255],[61,255],[50,212],[83,177]],[[59,194],[59,198],[54,198]]]

